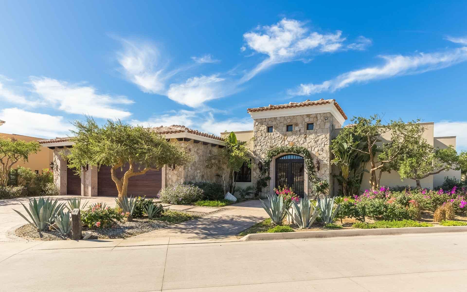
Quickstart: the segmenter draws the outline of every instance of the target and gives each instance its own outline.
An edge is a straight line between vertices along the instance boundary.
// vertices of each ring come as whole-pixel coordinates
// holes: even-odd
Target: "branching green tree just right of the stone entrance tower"
[[[351,148],[369,156],[369,183],[373,190],[380,187],[382,173],[396,170],[397,158],[404,155],[408,145],[420,141],[425,131],[420,120],[407,123],[401,119],[391,120],[388,125],[382,125],[382,120],[377,114],[369,118],[354,117],[351,121],[354,124],[344,128],[341,133],[342,135],[359,135],[367,143],[365,150],[353,146]],[[390,139],[384,142],[382,136],[386,133],[390,134]],[[378,142],[381,143],[377,144]]]

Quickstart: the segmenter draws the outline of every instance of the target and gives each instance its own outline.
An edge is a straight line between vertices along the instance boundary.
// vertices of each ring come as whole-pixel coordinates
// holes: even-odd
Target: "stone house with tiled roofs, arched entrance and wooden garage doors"
[[[331,165],[332,153],[329,146],[344,123],[347,116],[335,100],[305,100],[303,102],[290,102],[268,107],[248,108],[253,119],[253,130],[235,132],[237,139],[247,141],[252,157],[251,169],[243,165],[237,177],[236,186],[245,187],[255,185],[260,177],[260,169],[265,161],[267,151],[278,146],[301,146],[306,148],[315,164],[318,178],[325,179],[330,184],[330,190],[337,192],[333,173],[336,167]],[[455,147],[455,137],[433,137],[433,123],[423,123],[426,131],[424,138],[435,147],[445,148],[449,145]],[[165,186],[174,186],[183,182],[211,181],[220,182],[213,170],[206,167],[206,158],[215,153],[225,143],[221,137],[228,133],[221,133],[221,137],[202,133],[184,126],[172,125],[170,127],[153,128],[154,131],[165,135],[172,142],[191,153],[195,161],[184,167],[172,169],[164,166],[159,171],[148,171],[141,176],[130,178],[128,194],[156,196],[157,192]],[[388,138],[387,136],[383,136]],[[53,150],[56,171],[54,179],[60,187],[62,194],[82,194],[84,196],[110,195],[116,196],[117,189],[107,166],[97,168],[89,167],[81,171],[81,178],[66,167],[66,162],[60,156],[61,151],[67,151],[73,146],[70,138],[57,138],[43,140],[40,143]],[[319,164],[319,170],[317,166]],[[124,169],[126,171],[126,169]],[[280,153],[272,157],[269,166],[269,187],[272,192],[278,185],[289,185],[301,196],[313,196],[311,182],[304,164],[304,156],[299,153]],[[422,186],[433,188],[441,184],[445,176],[460,178],[460,171],[446,171],[422,180]],[[368,175],[363,178],[362,189],[368,184]],[[415,184],[413,181],[402,182],[396,172],[384,173],[382,185],[396,186]]]

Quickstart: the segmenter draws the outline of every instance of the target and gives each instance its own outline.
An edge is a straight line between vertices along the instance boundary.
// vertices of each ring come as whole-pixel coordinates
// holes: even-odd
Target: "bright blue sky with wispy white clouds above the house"
[[[4,1],[0,130],[66,136],[91,114],[219,135],[324,98],[467,149],[467,3],[373,2]]]

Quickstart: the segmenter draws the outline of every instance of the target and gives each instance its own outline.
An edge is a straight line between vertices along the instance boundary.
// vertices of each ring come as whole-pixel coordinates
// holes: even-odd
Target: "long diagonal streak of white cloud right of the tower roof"
[[[412,56],[390,55],[379,57],[384,61],[384,64],[380,66],[350,71],[320,84],[301,84],[298,88],[289,90],[289,94],[311,95],[321,92],[334,92],[355,83],[446,68],[467,61],[467,47],[444,52],[419,53]]]

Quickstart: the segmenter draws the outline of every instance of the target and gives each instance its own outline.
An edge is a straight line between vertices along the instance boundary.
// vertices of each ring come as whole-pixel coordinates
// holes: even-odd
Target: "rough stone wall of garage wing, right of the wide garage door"
[[[170,142],[179,143],[191,157],[193,161],[185,166],[177,166],[174,170],[166,167],[165,186],[175,186],[184,182],[221,182],[219,177],[216,177],[218,172],[215,168],[206,167],[206,159],[215,154],[219,150],[219,146],[211,146],[211,143],[204,145],[203,142],[195,143],[191,141],[178,141],[171,139]]]

